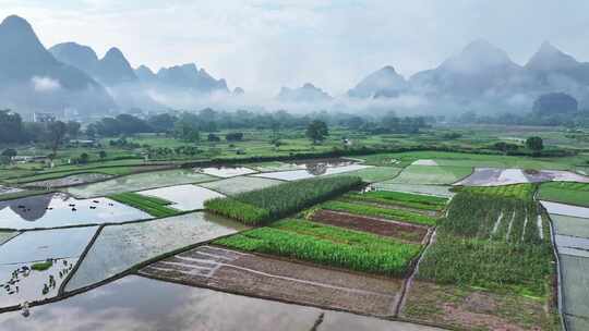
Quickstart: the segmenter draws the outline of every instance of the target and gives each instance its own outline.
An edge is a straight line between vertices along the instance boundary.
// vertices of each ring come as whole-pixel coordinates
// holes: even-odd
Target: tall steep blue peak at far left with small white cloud
[[[0,107],[23,112],[104,112],[116,107],[100,84],[56,60],[19,16],[0,24]]]

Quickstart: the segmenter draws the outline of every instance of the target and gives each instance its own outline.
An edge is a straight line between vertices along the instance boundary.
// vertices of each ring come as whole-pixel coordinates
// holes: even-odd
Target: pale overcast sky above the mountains
[[[405,76],[484,38],[525,63],[543,40],[589,61],[587,0],[0,0],[46,47],[119,47],[153,70],[194,62],[231,88],[306,82],[345,93],[384,65]]]

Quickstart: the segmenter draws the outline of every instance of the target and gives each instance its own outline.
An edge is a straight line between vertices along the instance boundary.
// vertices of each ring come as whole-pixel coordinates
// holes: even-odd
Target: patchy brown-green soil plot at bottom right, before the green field
[[[556,330],[544,301],[414,281],[401,317],[465,330]]]

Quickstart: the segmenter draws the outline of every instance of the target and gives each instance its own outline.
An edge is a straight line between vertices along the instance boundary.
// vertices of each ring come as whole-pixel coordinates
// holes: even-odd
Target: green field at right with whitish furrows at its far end
[[[552,248],[548,220],[530,199],[462,192],[418,278],[445,284],[515,291],[544,296],[550,289]]]

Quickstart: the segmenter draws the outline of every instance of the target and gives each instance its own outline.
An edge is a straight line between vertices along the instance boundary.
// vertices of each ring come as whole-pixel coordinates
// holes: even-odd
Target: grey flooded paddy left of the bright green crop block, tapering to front
[[[243,229],[240,223],[205,212],[105,226],[65,291],[96,284],[161,254]]]

